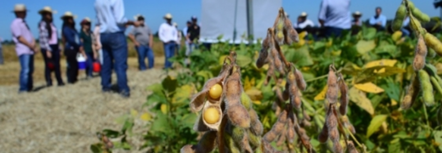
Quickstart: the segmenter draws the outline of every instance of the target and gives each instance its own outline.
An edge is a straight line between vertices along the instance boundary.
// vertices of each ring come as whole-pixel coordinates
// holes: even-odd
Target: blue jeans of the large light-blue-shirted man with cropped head
[[[101,85],[103,91],[112,86],[112,65],[117,73],[117,84],[120,92],[129,93],[127,85],[127,42],[123,32],[102,33],[103,65],[101,68]]]

